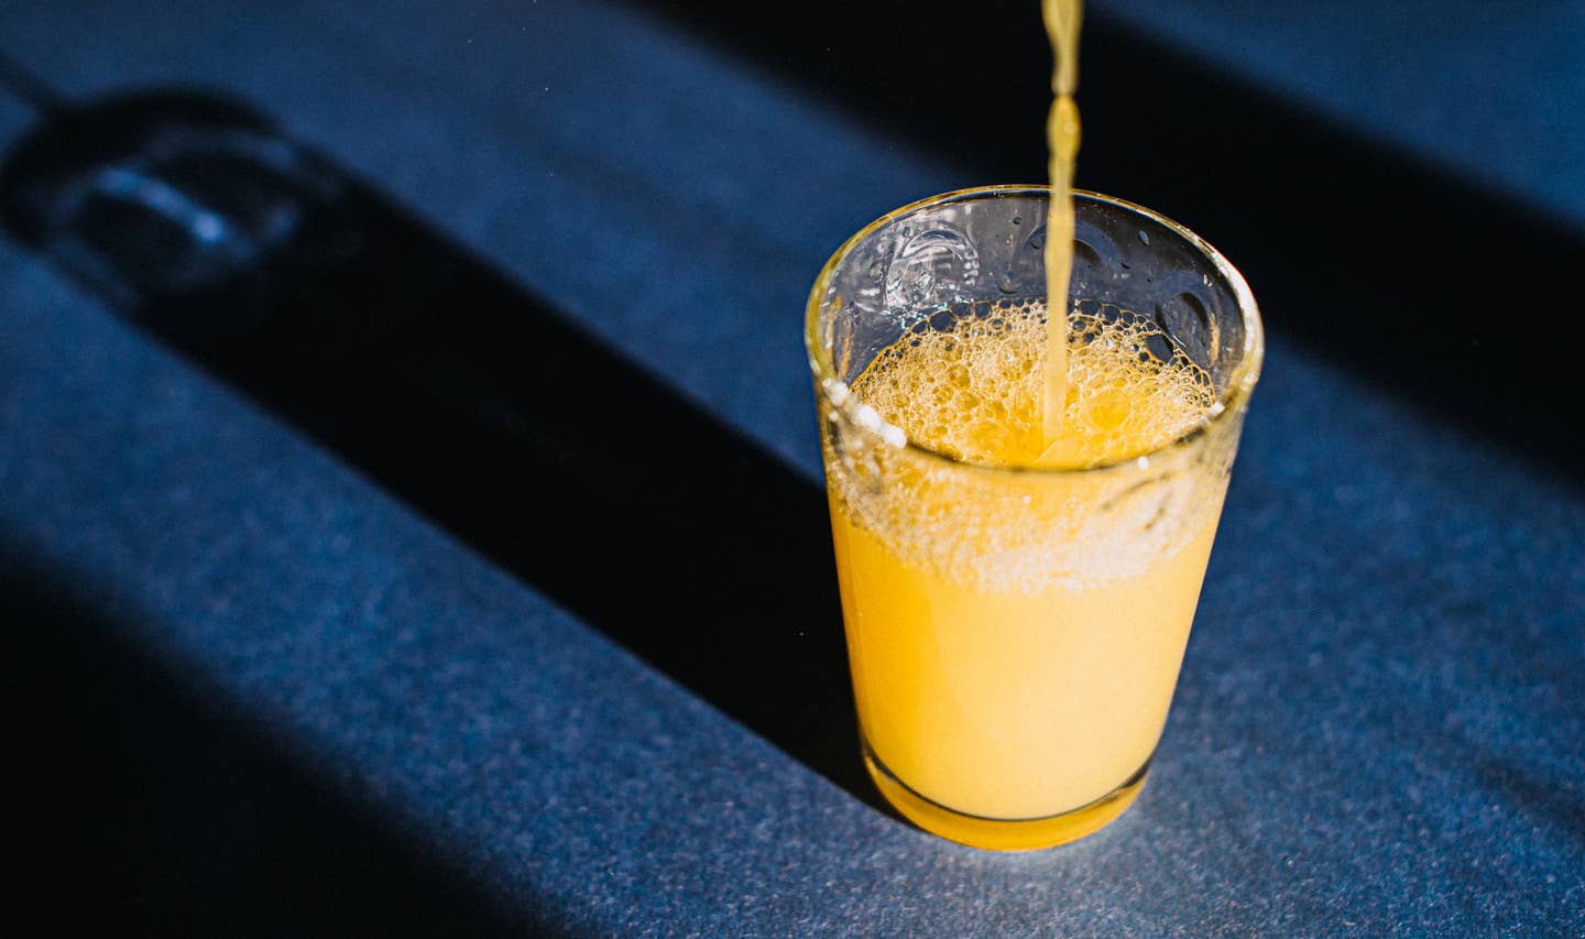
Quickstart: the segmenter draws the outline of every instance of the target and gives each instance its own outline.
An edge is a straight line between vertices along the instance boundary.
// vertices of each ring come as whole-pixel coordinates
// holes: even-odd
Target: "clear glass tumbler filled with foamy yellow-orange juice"
[[[957,349],[1035,305],[1043,322],[1045,187],[897,209],[837,251],[808,301],[864,760],[903,815],[986,849],[1083,837],[1143,787],[1263,352],[1254,297],[1209,244],[1149,209],[1073,198],[1070,355],[1114,355],[1132,378],[1090,389],[1070,420],[1113,433],[1187,393],[1170,404],[1189,417],[1143,449],[1114,433],[1121,450],[1100,458],[984,458],[1016,452],[984,382],[1029,398],[1041,360],[1029,343],[973,362]],[[926,352],[930,368],[900,370]],[[930,397],[911,435],[896,417],[908,395]],[[964,395],[991,419],[946,446],[924,425]]]

